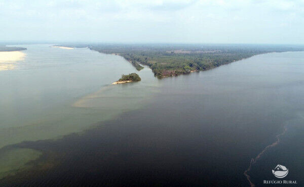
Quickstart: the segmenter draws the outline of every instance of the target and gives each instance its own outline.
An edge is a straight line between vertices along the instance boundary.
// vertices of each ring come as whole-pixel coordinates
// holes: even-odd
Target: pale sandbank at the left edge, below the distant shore
[[[24,60],[25,53],[20,51],[0,52],[0,71],[14,69],[16,61]]]

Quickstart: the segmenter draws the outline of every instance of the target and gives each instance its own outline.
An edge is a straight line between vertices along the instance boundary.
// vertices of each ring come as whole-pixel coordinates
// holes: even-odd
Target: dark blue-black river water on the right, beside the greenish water
[[[12,146],[43,156],[2,184],[248,186],[250,160],[284,129],[248,174],[260,185],[277,179],[272,169],[282,164],[290,169],[286,179],[301,184],[303,59],[303,52],[271,53],[162,79],[148,105],[82,134]],[[123,88],[134,96],[147,89]],[[119,106],[98,95],[74,104]]]

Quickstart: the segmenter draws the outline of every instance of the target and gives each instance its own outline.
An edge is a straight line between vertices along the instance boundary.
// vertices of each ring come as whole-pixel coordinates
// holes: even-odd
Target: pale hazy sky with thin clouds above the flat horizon
[[[304,0],[0,0],[0,41],[304,44]]]

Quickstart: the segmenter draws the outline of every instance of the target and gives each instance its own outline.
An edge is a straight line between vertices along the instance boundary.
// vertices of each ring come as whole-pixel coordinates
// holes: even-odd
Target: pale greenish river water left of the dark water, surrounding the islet
[[[7,152],[1,148],[23,141],[81,132],[141,108],[158,91],[160,82],[150,69],[138,72],[120,56],[49,44],[20,46],[27,48],[22,51],[25,59],[15,62],[14,69],[0,72],[0,153]],[[142,81],[111,84],[132,72]],[[0,164],[5,160],[0,156]]]

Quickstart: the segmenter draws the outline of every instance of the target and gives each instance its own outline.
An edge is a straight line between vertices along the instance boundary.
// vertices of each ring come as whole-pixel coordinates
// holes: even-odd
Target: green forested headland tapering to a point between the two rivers
[[[176,76],[203,71],[254,55],[303,51],[300,45],[256,44],[80,44],[65,45],[88,47],[105,54],[124,57],[137,69],[149,66],[159,77]]]

